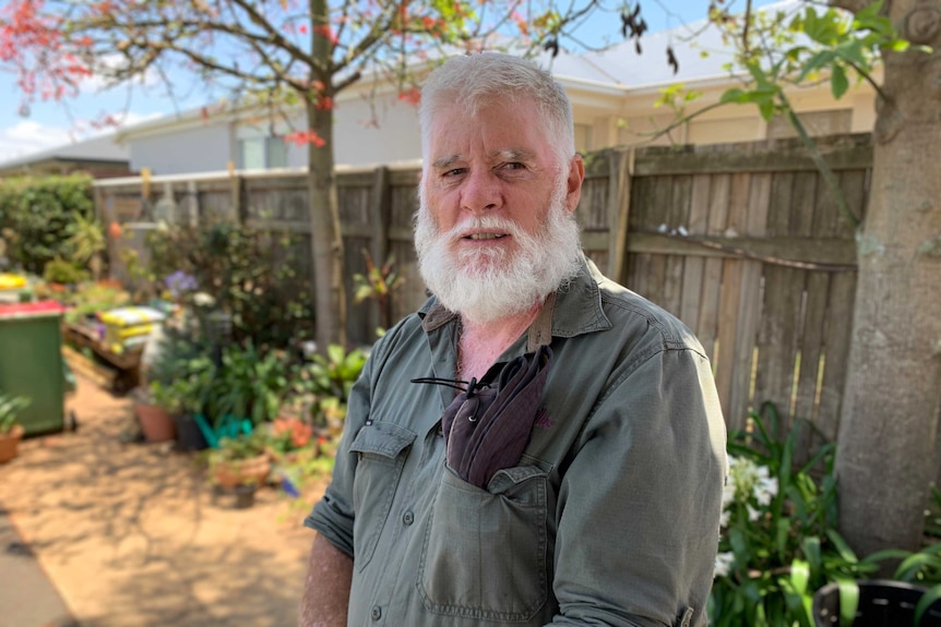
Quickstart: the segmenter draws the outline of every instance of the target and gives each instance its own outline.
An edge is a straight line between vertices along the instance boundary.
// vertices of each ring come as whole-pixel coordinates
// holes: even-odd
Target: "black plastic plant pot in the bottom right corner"
[[[859,606],[853,627],[916,627],[915,606],[925,588],[891,580],[857,581]],[[813,595],[817,627],[839,627],[839,587],[829,583]],[[917,627],[941,627],[941,600],[932,603]]]

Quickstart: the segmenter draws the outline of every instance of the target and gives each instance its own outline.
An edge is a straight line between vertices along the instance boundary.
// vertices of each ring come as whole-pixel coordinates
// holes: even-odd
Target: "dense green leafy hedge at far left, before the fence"
[[[72,261],[76,216],[94,215],[86,174],[10,179],[0,184],[0,233],[14,265],[40,274],[57,257]]]

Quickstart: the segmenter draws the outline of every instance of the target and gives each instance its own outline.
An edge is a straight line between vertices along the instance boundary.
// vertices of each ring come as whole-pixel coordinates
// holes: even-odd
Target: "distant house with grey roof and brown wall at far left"
[[[129,155],[128,146],[115,142],[114,134],[100,135],[0,161],[0,179],[74,172],[87,172],[95,179],[127,177],[132,173]]]

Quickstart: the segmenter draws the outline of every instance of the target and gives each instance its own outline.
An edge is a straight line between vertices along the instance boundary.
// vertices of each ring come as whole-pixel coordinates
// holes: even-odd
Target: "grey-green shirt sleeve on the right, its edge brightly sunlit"
[[[708,361],[663,350],[599,400],[562,479],[552,625],[705,625],[727,471]]]

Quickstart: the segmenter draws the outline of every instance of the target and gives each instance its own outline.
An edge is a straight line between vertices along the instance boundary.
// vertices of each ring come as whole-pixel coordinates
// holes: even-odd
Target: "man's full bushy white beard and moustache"
[[[485,216],[441,233],[421,198],[415,248],[425,285],[449,311],[475,324],[522,314],[577,276],[582,264],[579,226],[564,204],[564,181],[550,200],[547,222],[535,234],[503,218]],[[454,253],[468,229],[509,233],[512,252],[493,246]]]

